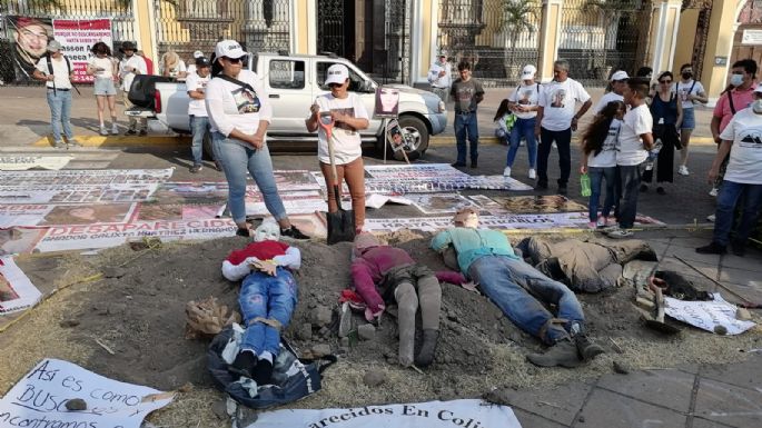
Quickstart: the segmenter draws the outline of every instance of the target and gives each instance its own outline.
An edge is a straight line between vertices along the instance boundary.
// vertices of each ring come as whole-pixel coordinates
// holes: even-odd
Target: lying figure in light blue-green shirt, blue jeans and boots
[[[455,227],[437,233],[432,248],[443,255],[454,249],[461,271],[477,282],[516,327],[551,347],[545,354],[527,355],[530,362],[577,367],[603,352],[587,340],[582,307],[572,290],[517,257],[504,233],[479,229],[475,209],[461,209],[453,221]],[[546,305],[554,305],[557,313],[551,313]]]

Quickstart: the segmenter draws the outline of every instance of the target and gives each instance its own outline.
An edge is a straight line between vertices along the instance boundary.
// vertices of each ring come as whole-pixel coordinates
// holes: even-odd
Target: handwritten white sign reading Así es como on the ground
[[[86,410],[67,410],[72,399]],[[75,364],[44,359],[0,400],[2,427],[139,428],[144,418],[172,401],[174,394],[116,381]]]

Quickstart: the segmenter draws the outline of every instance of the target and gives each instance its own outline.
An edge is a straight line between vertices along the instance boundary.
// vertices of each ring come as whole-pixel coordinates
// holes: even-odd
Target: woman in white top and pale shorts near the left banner
[[[103,112],[108,104],[111,113],[111,133],[119,135],[117,127],[117,87],[115,82],[119,80],[117,61],[111,57],[111,49],[102,41],[97,42],[91,49],[95,57],[90,58],[87,64],[87,74],[95,77],[93,92],[98,102],[98,121],[100,122],[100,135],[108,136]]]

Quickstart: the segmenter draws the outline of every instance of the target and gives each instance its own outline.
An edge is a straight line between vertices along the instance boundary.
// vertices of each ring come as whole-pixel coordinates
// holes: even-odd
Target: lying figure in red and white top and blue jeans
[[[222,261],[225,278],[244,280],[238,303],[246,332],[228,370],[259,386],[273,377],[280,330],[288,327],[296,305],[297,285],[290,271],[301,266],[299,249],[279,239],[278,225],[265,222],[255,230],[254,242],[230,252]]]

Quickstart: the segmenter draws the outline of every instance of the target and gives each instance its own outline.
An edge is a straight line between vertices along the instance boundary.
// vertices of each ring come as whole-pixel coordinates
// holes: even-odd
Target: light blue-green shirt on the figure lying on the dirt
[[[449,245],[455,247],[457,265],[461,272],[466,275],[471,263],[483,256],[505,256],[518,260],[508,238],[497,230],[452,228],[432,239],[432,249],[435,251],[442,251]]]

